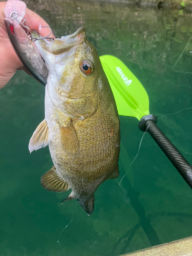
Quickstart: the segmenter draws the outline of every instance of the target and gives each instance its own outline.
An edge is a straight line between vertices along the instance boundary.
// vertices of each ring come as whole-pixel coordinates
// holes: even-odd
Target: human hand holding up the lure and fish
[[[11,77],[15,74],[16,69],[25,70],[23,63],[19,60],[15,51],[13,50],[5,29],[5,5],[6,2],[0,2],[0,89],[2,89],[9,82]],[[27,24],[31,31],[38,31],[39,23],[41,23],[41,26],[49,26],[44,19],[28,8],[26,8],[25,19],[27,20]],[[41,36],[46,36],[49,34],[49,32],[49,28],[38,31]],[[54,37],[54,35],[51,34],[50,37]]]

